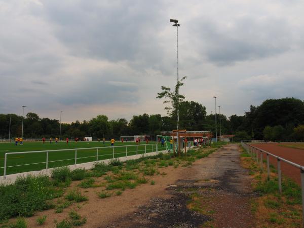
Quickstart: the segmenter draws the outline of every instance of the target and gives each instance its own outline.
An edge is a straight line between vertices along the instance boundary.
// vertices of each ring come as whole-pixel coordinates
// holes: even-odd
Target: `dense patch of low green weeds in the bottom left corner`
[[[53,205],[48,201],[60,195],[62,191],[46,175],[19,176],[15,183],[0,184],[0,220],[50,209]]]

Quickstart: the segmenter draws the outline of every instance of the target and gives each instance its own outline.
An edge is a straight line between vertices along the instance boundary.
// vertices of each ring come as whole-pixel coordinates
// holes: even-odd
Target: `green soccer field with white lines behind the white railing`
[[[124,157],[126,152],[128,156],[138,154],[144,154],[156,151],[156,142],[141,142],[136,146],[135,142],[115,142],[114,157]],[[75,164],[75,149],[77,148],[77,164],[85,162],[93,162],[97,160],[97,148],[98,148],[98,160],[113,158],[113,147],[109,147],[110,142],[69,142],[68,145],[65,142],[58,142],[55,144],[52,142],[24,142],[23,145],[15,145],[14,142],[0,143],[0,176],[4,175],[4,158],[5,153],[16,153],[23,151],[37,151],[37,150],[59,150],[50,151],[48,153],[48,168],[73,165]],[[95,147],[95,148],[94,148]],[[160,148],[160,144],[158,145]],[[86,149],[80,149],[86,148]],[[72,150],[63,150],[72,149]],[[21,173],[27,171],[41,170],[46,168],[47,153],[32,153],[32,154],[12,154],[7,156],[7,171],[6,174]]]

